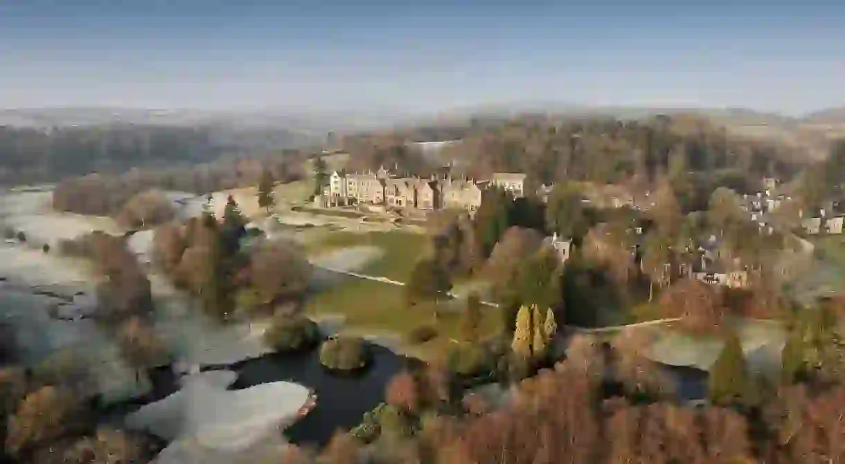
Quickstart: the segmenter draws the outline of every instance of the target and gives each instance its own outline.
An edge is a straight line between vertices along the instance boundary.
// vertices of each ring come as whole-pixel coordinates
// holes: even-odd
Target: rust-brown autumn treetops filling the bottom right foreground
[[[845,457],[841,380],[804,364],[803,380],[785,376],[763,386],[744,371],[734,340],[714,367],[710,403],[682,405],[639,338],[574,337],[564,361],[516,381],[499,407],[480,393],[463,395],[442,364],[401,373],[363,424],[336,434],[319,456],[293,449],[286,462],[820,464]],[[828,342],[823,351],[839,348]],[[831,372],[842,367],[825,364]]]

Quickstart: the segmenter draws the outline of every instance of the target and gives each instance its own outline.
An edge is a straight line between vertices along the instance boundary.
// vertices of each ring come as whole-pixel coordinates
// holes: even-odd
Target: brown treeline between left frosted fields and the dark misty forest
[[[169,219],[163,195],[150,191],[208,193],[259,184],[262,176],[289,182],[303,177],[302,158],[290,154],[279,158],[231,159],[183,169],[134,169],[121,175],[90,174],[62,181],[53,191],[58,211],[117,216],[123,223],[139,226]]]

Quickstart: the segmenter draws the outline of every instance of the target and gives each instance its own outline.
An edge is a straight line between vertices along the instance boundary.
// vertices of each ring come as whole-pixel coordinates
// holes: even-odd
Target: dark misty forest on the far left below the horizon
[[[115,174],[134,167],[191,166],[222,156],[286,150],[294,139],[283,130],[274,133],[213,126],[0,126],[0,183],[52,182],[91,172]]]

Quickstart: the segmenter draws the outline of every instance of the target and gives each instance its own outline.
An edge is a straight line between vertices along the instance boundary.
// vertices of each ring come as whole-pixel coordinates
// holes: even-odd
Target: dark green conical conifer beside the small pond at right
[[[707,379],[710,401],[718,405],[750,405],[753,386],[739,337],[730,334]]]

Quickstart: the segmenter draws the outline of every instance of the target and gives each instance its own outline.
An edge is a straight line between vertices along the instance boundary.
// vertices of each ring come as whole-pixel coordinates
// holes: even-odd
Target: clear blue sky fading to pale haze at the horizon
[[[382,3],[0,0],[0,108],[845,105],[832,1]]]

